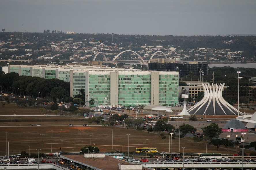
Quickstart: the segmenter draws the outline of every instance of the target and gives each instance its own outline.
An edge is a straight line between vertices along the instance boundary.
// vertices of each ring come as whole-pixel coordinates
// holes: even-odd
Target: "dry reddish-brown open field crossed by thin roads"
[[[16,115],[14,115],[14,113]],[[90,144],[95,144],[95,146],[99,147],[100,151],[112,151],[111,128],[113,128],[113,150],[127,151],[127,134],[131,134],[129,135],[129,151],[135,151],[136,147],[146,147],[146,139],[148,139],[148,147],[155,147],[159,152],[169,151],[168,136],[164,140],[159,137],[157,133],[148,133],[147,131],[139,132],[134,129],[127,130],[124,127],[116,126],[103,127],[101,125],[95,126],[92,124],[91,126],[69,127],[67,126],[69,123],[73,125],[83,125],[85,123],[84,117],[44,116],[44,114],[54,115],[48,112],[40,113],[39,109],[19,108],[14,103],[6,103],[5,106],[2,107],[0,103],[0,156],[6,154],[6,134],[7,146],[9,142],[9,155],[20,154],[20,152],[24,150],[29,152],[29,146],[30,153],[37,153],[36,149],[42,148],[42,141],[43,153],[58,152],[61,151],[61,148],[64,152],[79,152],[81,147]],[[134,116],[134,113],[131,113],[131,116]],[[219,117],[220,116],[218,116],[218,118]],[[230,116],[221,117],[223,117],[223,120],[230,118]],[[206,118],[212,118],[213,120],[214,116],[207,116]],[[201,121],[201,119],[199,119],[199,121]],[[179,122],[174,122],[173,125],[176,126],[176,123],[178,125]],[[31,124],[40,124],[42,126],[31,126]],[[202,123],[197,127],[198,130],[201,130],[201,126]],[[44,134],[43,139],[40,134]],[[185,140],[181,138],[179,142],[178,137],[172,140],[172,152],[182,152],[182,148],[179,149],[179,143],[180,147],[186,147],[184,149],[185,152],[206,152],[206,141],[203,140],[199,143],[194,143],[191,139],[187,138]],[[41,151],[39,151],[39,153],[40,152]],[[216,147],[208,145],[208,153],[210,152],[228,153],[227,149],[224,147],[221,147],[220,150],[217,151]],[[235,148],[230,147],[229,152],[233,154]]]

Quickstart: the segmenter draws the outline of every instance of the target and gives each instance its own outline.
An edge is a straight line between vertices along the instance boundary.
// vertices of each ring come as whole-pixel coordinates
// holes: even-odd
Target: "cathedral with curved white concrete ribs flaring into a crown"
[[[188,109],[189,114],[194,115],[237,115],[238,110],[231,106],[222,97],[222,91],[225,84],[205,84],[204,98],[196,105]]]

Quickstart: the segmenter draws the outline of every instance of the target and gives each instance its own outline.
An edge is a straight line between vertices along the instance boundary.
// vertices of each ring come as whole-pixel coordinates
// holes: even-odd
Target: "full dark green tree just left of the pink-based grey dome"
[[[211,123],[210,125],[202,128],[203,135],[206,138],[218,138],[222,134],[221,128],[216,123]]]

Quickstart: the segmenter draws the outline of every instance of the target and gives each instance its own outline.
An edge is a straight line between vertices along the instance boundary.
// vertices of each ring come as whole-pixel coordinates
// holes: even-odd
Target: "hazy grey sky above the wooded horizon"
[[[0,31],[256,34],[256,0],[0,0]]]

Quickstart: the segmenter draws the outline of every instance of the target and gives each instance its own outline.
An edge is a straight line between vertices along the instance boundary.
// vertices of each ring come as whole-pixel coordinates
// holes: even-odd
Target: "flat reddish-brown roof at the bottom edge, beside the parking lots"
[[[61,158],[72,161],[72,163],[80,164],[85,167],[89,167],[95,170],[122,170],[122,169],[137,169],[137,170],[152,170],[150,168],[142,167],[141,164],[129,163],[116,159],[104,154],[104,157],[98,157],[94,154],[94,157],[84,155],[60,155]]]

